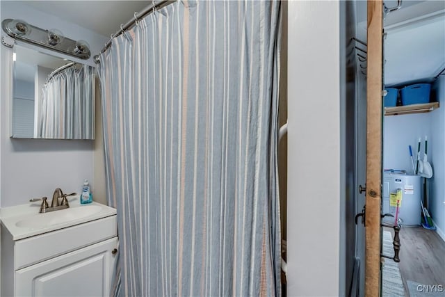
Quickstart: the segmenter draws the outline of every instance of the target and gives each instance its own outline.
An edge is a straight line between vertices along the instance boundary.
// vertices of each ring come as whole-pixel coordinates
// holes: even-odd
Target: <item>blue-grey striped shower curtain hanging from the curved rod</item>
[[[178,1],[101,54],[119,296],[280,296],[279,1]]]

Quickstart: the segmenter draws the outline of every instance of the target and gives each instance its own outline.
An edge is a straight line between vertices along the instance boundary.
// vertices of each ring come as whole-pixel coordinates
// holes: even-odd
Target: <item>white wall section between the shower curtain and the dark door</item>
[[[287,294],[339,296],[339,1],[289,1],[288,20]]]

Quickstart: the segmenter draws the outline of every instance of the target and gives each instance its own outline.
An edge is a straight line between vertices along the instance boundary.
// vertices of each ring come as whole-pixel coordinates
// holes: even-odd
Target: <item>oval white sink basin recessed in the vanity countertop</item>
[[[78,220],[97,214],[102,210],[98,205],[88,205],[83,207],[70,207],[58,211],[52,211],[47,214],[39,214],[31,216],[31,218],[24,218],[17,221],[15,225],[21,228],[39,229],[42,227],[50,227],[51,225],[58,225],[61,223],[69,223],[72,220]]]

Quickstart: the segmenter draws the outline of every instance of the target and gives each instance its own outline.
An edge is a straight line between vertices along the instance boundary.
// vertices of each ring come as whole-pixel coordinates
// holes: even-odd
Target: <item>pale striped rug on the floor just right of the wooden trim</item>
[[[383,255],[387,255],[389,257],[394,256],[392,241],[393,239],[391,232],[383,231]],[[398,268],[398,263],[391,259],[382,259],[384,259],[384,263],[382,264],[382,296],[405,296],[405,288],[403,287],[401,271]]]

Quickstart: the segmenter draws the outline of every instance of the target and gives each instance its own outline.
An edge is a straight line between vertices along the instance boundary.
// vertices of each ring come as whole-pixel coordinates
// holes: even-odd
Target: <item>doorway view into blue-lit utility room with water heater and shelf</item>
[[[391,6],[395,2],[385,4]],[[403,1],[399,10],[385,15],[383,48],[387,95],[382,128],[382,214],[392,215],[383,219],[387,224],[402,226],[400,262],[385,259],[385,263],[400,271],[405,296],[425,291],[442,293],[445,3]],[[431,165],[432,174],[420,168],[426,166],[425,161]],[[385,236],[391,241],[394,231],[383,227],[382,236],[385,254]],[[385,282],[385,275],[382,280]],[[385,294],[389,293],[383,286],[382,295]]]

